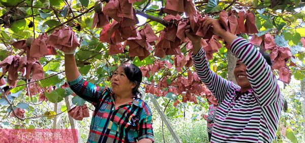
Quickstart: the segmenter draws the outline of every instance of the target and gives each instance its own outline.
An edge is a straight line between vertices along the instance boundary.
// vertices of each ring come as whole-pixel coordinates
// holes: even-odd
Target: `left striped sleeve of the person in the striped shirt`
[[[233,83],[231,81],[218,76],[215,72],[210,70],[203,48],[201,48],[196,55],[192,54],[192,56],[196,73],[206,87],[214,94],[220,104],[225,98],[229,89],[235,86],[232,86]]]

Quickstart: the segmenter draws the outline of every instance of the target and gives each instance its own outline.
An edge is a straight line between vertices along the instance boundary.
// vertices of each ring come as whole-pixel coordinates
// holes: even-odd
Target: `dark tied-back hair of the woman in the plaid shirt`
[[[121,63],[124,69],[124,72],[127,78],[136,84],[136,87],[132,89],[132,94],[135,96],[136,99],[141,98],[141,93],[139,92],[139,87],[142,82],[142,71],[136,65],[130,63],[129,61]]]

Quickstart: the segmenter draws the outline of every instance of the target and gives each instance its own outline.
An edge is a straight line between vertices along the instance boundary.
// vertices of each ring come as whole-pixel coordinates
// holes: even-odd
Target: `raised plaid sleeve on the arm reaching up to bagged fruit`
[[[84,80],[81,75],[73,81],[68,81],[68,84],[75,94],[94,105],[102,98],[104,87]]]

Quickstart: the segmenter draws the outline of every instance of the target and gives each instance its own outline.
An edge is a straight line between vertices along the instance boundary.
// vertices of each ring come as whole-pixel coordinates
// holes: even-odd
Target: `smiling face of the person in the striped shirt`
[[[234,69],[234,76],[237,84],[242,90],[251,89],[250,81],[248,80],[246,75],[246,65],[241,63],[239,60],[237,60],[236,62],[236,66]]]

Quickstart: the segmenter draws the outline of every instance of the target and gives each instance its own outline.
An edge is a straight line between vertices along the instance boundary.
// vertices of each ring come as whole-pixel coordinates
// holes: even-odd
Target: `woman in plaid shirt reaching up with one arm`
[[[154,142],[151,110],[140,99],[141,70],[125,62],[111,77],[111,88],[99,87],[82,78],[74,53],[65,53],[66,77],[70,88],[96,109],[87,142]]]

